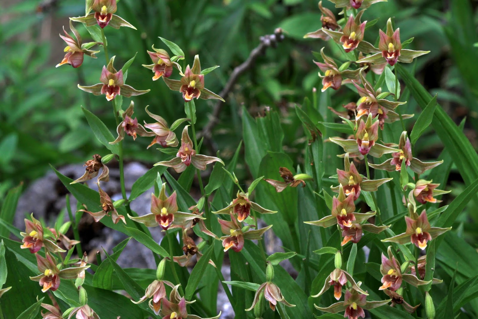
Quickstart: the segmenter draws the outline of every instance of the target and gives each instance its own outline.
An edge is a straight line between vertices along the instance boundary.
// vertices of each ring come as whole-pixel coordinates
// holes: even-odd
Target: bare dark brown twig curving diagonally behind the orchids
[[[276,47],[277,43],[282,41],[283,39],[284,35],[282,34],[281,28],[275,29],[273,34],[261,36],[261,43],[250,52],[250,55],[246,61],[234,68],[229,77],[228,83],[226,83],[226,86],[221,91],[221,93],[219,93],[219,95],[224,99],[227,99],[228,94],[232,91],[232,87],[234,86],[234,84],[236,84],[236,81],[238,80],[239,76],[255,64],[257,57],[259,55],[262,55],[267,47]],[[201,132],[198,132],[198,138],[204,136],[206,141],[211,139],[211,131],[219,121],[219,113],[221,112],[223,105],[223,101],[217,100],[216,105],[214,106],[214,110],[212,111],[212,114],[210,116],[210,121],[206,124],[206,126]]]

